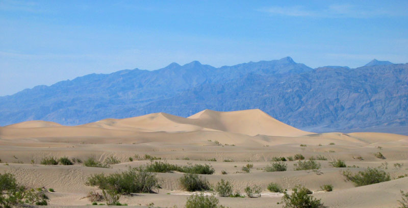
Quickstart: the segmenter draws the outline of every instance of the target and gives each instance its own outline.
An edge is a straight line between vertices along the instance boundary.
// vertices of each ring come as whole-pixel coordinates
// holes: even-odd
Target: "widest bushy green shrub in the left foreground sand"
[[[94,174],[88,178],[88,186],[96,186],[101,190],[111,190],[112,197],[118,194],[154,193],[160,188],[156,174],[146,171],[143,167],[131,168],[121,173],[104,175]]]

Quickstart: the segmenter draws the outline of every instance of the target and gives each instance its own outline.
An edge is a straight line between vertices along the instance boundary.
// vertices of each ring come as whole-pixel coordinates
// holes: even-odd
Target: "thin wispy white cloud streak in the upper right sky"
[[[390,11],[384,8],[367,9],[350,4],[333,4],[322,9],[309,9],[304,6],[267,7],[259,9],[272,15],[293,17],[328,17],[328,18],[371,18],[377,16],[407,16],[406,12]]]

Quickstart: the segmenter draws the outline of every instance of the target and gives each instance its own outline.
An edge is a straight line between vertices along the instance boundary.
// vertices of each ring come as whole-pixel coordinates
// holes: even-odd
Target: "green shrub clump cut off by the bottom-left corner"
[[[29,189],[18,185],[11,173],[0,173],[0,207],[19,207],[24,204],[47,205],[45,189]]]

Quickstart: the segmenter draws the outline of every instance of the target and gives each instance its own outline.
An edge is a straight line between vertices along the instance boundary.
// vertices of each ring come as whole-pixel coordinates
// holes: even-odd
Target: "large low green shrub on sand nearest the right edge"
[[[355,186],[366,186],[391,180],[390,174],[379,168],[368,167],[365,171],[353,175],[350,170],[343,171],[343,175],[351,180]]]

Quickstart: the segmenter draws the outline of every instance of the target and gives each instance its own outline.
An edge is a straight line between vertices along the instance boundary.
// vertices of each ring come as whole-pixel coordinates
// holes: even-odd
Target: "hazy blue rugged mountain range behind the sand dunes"
[[[198,61],[89,74],[0,97],[0,125],[46,120],[78,125],[155,112],[261,109],[297,128],[408,125],[408,64],[373,60],[312,69],[290,57],[215,68]]]

